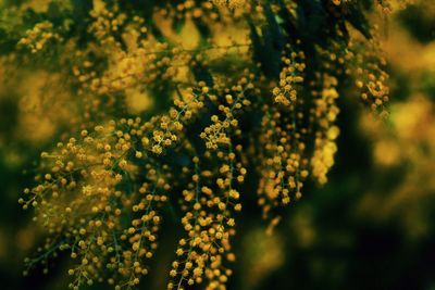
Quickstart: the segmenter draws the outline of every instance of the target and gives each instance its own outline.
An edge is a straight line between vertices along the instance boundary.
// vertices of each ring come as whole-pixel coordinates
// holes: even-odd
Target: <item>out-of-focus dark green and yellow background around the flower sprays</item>
[[[254,200],[245,206],[229,289],[435,289],[431,2],[374,20],[389,60],[390,117],[381,122],[358,100],[341,98],[341,135],[330,182],[322,188],[310,185],[273,236],[264,235]],[[52,261],[47,276],[41,270],[22,276],[23,259],[35,252],[42,237],[17,199],[32,182],[39,152],[57,139],[67,114],[47,114],[51,104],[40,98],[45,88],[37,79],[49,76],[32,72],[25,79],[11,80],[8,74],[0,62],[0,288],[66,289],[69,261],[62,256]],[[164,289],[172,249],[171,242],[162,242],[162,255],[157,255],[162,257],[141,289]]]

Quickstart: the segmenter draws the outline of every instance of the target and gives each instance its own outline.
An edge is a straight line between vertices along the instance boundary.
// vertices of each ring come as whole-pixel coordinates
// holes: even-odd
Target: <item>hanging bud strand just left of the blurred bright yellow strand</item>
[[[289,48],[287,48],[289,49]],[[306,68],[303,52],[291,52],[283,58],[279,84],[272,90],[274,103],[264,104],[261,122],[261,178],[258,187],[259,205],[263,217],[279,205],[302,197],[303,180],[309,176],[306,152],[307,135],[303,98],[297,98]],[[273,223],[276,223],[274,219]]]

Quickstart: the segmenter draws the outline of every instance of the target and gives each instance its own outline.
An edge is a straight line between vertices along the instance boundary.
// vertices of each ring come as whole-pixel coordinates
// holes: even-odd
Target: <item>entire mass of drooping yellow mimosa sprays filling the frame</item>
[[[42,153],[44,174],[20,199],[51,235],[28,266],[67,250],[77,261],[71,288],[100,281],[135,288],[149,272],[167,206],[184,229],[167,289],[201,282],[225,289],[248,169],[259,178],[269,229],[279,207],[302,197],[308,177],[326,182],[339,134],[338,79],[356,75],[361,97],[377,111],[388,100],[388,76],[378,43],[349,36],[347,45],[339,25],[328,27],[327,48],[293,39],[281,16],[271,15],[293,17],[299,2],[256,2],[250,17],[249,1],[187,0],[153,7],[145,18],[125,9],[133,3],[94,1],[86,43],[69,39],[62,48],[71,55],[55,60],[65,88],[78,96],[83,130]],[[327,1],[325,13],[337,16],[345,3],[352,4]],[[51,30],[37,24],[20,43],[40,50],[57,38]],[[246,40],[223,41],[226,30]],[[178,34],[199,40],[186,46],[181,38],[189,37]],[[269,46],[270,37],[276,43]],[[270,74],[261,49],[272,47]],[[127,110],[146,97],[156,111]]]

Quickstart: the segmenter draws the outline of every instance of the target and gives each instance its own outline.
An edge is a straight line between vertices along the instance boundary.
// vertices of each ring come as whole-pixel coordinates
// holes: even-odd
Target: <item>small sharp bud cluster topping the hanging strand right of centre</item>
[[[303,81],[303,52],[291,52],[290,58],[283,56],[283,70],[279,73],[279,84],[273,88],[272,92],[276,103],[290,105],[297,98],[297,86]]]

